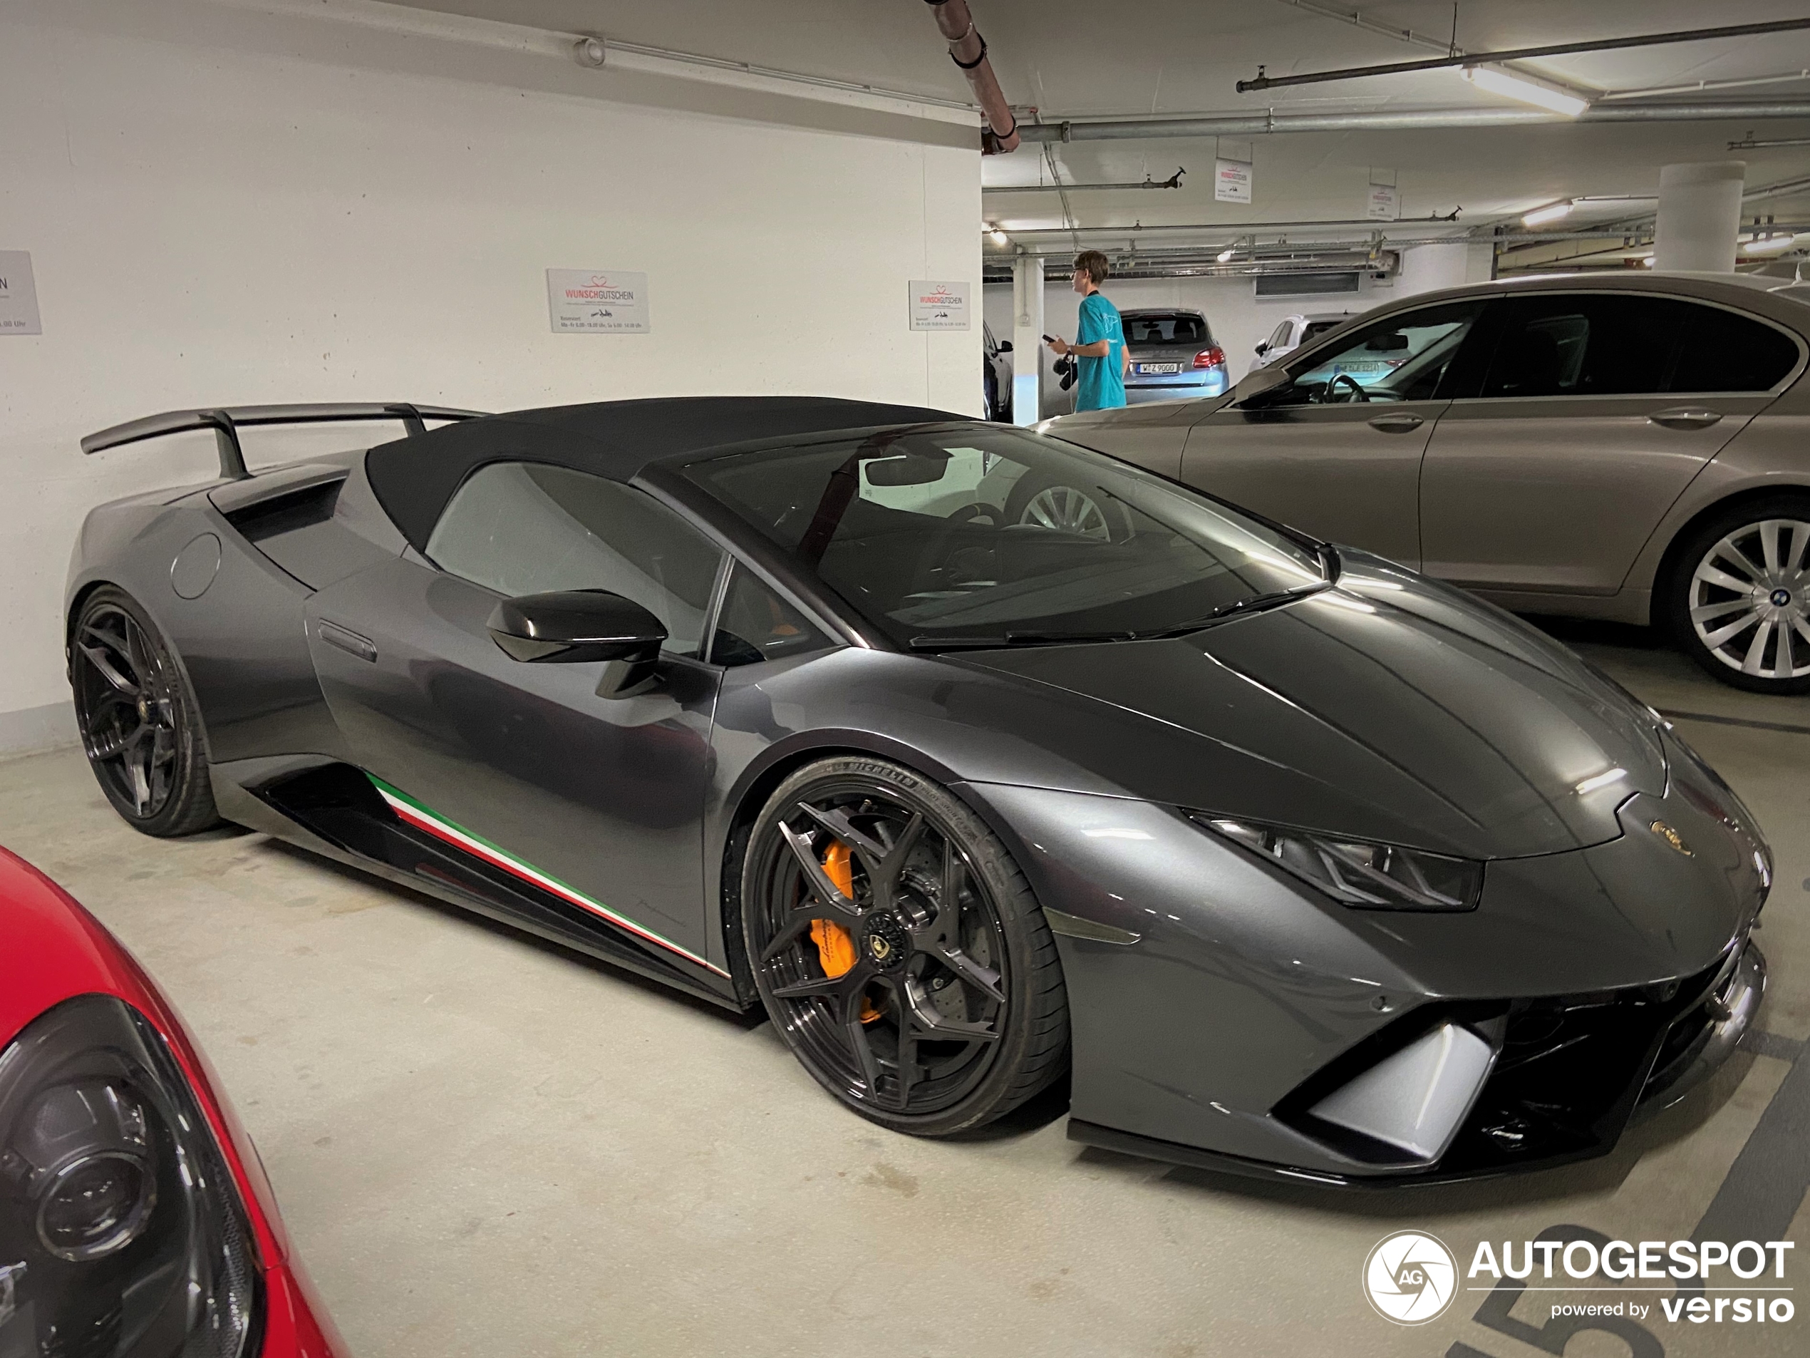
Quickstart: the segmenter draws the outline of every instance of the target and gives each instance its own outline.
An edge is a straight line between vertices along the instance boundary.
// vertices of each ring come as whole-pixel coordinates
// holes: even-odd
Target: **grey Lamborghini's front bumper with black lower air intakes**
[[[1765,987],[1748,931],[1770,858],[1687,759],[1663,797],[1627,799],[1620,837],[1491,862],[1466,913],[1347,909],[1148,802],[985,800],[1055,913],[1070,1135],[1113,1150],[1336,1184],[1604,1155],[1727,1059]],[[1397,1135],[1332,1112],[1441,1025],[1491,1059],[1457,1099],[1397,1103],[1441,1094],[1452,1121]]]

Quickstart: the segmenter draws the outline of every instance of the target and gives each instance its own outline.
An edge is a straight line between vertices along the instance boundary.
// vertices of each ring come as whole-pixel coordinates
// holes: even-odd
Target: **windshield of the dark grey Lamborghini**
[[[1325,583],[1318,554],[1234,509],[999,426],[731,453],[684,474],[919,650],[1180,634]]]

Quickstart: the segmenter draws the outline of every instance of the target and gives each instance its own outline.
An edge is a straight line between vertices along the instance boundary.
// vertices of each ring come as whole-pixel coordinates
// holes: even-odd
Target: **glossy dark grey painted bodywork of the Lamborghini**
[[[270,482],[337,487],[308,532],[252,529],[255,493],[197,487],[94,511],[71,567],[71,616],[116,583],[168,637],[230,818],[744,1009],[726,907],[767,789],[827,753],[900,760],[994,827],[1059,922],[1084,1139],[1234,1170],[1401,1173],[1316,1135],[1289,1099],[1457,1001],[1671,987],[1653,999],[1671,1032],[1680,1010],[1665,1005],[1732,969],[1765,898],[1750,817],[1651,712],[1506,614],[1363,552],[1341,554],[1319,594],[1189,637],[903,654],[653,464],[634,483],[833,643],[737,668],[668,657],[646,701],[599,699],[597,665],[512,666],[487,650],[496,596],[404,543],[357,454],[308,465]],[[223,559],[183,598],[170,567],[199,534]],[[512,896],[472,864],[364,849],[331,829],[331,799],[284,800],[337,768],[456,806],[474,833],[641,911],[681,952]],[[1186,809],[1481,858],[1482,900],[1354,911]],[[1642,1050],[1605,1076],[1605,1141],[1538,1162],[1615,1143],[1660,1048]],[[1466,1153],[1455,1173],[1513,1168]]]

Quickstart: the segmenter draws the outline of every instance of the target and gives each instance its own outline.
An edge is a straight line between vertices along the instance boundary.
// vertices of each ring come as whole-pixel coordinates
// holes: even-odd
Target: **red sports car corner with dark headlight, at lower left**
[[[344,1358],[156,983],[0,849],[0,1354]]]

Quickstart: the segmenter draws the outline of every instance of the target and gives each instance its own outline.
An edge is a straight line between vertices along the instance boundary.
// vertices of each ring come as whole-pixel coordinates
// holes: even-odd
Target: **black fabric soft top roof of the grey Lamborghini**
[[[793,435],[968,420],[925,406],[834,397],[661,397],[510,411],[429,429],[366,453],[366,474],[402,534],[425,550],[447,500],[489,462],[554,462],[615,482],[650,462]]]

